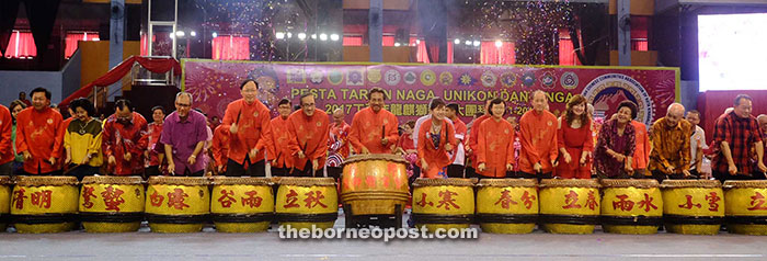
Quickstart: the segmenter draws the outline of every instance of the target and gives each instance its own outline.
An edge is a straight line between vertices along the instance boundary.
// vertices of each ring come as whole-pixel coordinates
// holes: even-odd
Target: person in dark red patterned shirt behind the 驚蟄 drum
[[[115,102],[115,113],[106,118],[102,150],[107,169],[115,175],[142,175],[147,150],[147,120],[134,112],[130,101]]]

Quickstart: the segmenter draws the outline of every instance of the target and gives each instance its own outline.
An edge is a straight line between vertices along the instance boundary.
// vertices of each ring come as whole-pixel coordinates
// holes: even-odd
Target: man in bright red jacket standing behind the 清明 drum
[[[50,91],[32,90],[32,107],[16,115],[16,151],[24,155],[26,174],[60,174],[64,136],[59,136],[61,114],[49,107]]]

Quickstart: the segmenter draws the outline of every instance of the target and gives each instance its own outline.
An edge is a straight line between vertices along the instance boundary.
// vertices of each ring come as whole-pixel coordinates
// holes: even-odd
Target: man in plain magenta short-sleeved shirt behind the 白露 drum
[[[201,152],[208,137],[207,121],[205,115],[191,109],[192,94],[179,92],[175,112],[168,115],[162,125],[160,143],[165,147],[168,172],[173,175],[202,177],[205,172]]]

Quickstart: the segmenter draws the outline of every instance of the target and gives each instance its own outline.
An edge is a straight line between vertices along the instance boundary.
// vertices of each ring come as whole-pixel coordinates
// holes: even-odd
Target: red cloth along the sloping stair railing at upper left
[[[147,70],[154,73],[165,73],[173,69],[173,75],[181,75],[181,64],[179,64],[179,61],[173,58],[148,58],[140,56],[130,56],[130,58],[123,60],[123,63],[119,63],[119,65],[115,66],[115,68],[112,68],[112,70],[107,71],[106,75],[99,77],[99,79],[80,88],[80,90],[77,90],[67,99],[61,100],[59,106],[66,106],[69,104],[69,102],[71,102],[75,99],[88,97],[91,92],[93,92],[93,87],[111,86],[119,81],[121,79],[123,79],[123,77],[125,77],[125,75],[130,72],[130,68],[133,68],[134,63],[138,63],[139,65],[141,65],[141,67],[147,68]]]

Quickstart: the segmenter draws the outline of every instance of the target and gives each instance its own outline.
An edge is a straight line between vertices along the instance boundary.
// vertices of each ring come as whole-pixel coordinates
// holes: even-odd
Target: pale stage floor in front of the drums
[[[344,224],[343,215],[335,223]],[[284,240],[220,234],[0,234],[3,260],[767,260],[765,237],[480,234],[476,240]]]

